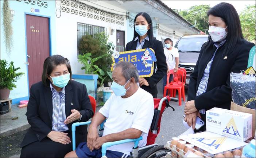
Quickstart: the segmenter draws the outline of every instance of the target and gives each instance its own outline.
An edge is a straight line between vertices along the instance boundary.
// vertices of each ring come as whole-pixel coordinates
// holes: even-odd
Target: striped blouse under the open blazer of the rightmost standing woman
[[[212,62],[213,62],[213,59],[214,59],[214,56],[218,50],[218,48],[220,48],[220,46],[224,45],[224,43],[226,42],[226,40],[224,41],[221,41],[220,43],[216,43],[214,42],[214,45],[216,46],[216,50],[211,58],[211,60],[208,62],[205,70],[204,70],[204,73],[203,73],[203,77],[199,83],[199,86],[198,86],[198,90],[197,90],[197,96],[203,94],[206,92],[206,89],[207,89],[207,84],[208,84],[208,79],[209,79],[209,75],[210,75],[210,70],[211,70],[211,67],[212,67]],[[205,114],[205,109],[201,109],[199,110],[199,113],[201,114]]]

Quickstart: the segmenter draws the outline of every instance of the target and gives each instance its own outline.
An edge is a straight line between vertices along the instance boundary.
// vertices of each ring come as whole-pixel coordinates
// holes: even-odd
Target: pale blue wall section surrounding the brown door
[[[12,51],[7,54],[5,51],[5,43],[4,43],[4,33],[3,33],[3,17],[2,17],[2,9],[3,9],[3,1],[0,4],[1,11],[1,59],[5,59],[8,62],[14,61],[15,67],[20,67],[19,72],[24,72],[25,75],[22,76],[17,82],[17,88],[13,89],[10,93],[10,97],[12,98],[12,103],[17,104],[20,100],[28,100],[29,89],[28,89],[28,68],[27,65],[24,64],[27,62],[27,52],[26,52],[26,19],[25,14],[32,14],[37,16],[46,16],[50,17],[50,48],[51,54],[56,54],[56,37],[55,37],[55,1],[46,0],[47,8],[39,7],[37,5],[37,1],[35,5],[26,4],[24,1],[9,1],[9,7],[13,11],[15,11],[15,16],[13,16],[12,21],[12,29],[13,29],[13,48]],[[31,12],[31,8],[39,9],[39,12]]]

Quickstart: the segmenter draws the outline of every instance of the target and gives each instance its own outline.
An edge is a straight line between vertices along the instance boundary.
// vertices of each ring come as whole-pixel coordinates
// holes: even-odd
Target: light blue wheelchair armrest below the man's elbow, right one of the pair
[[[101,152],[102,152],[102,157],[106,155],[106,148],[113,146],[113,145],[119,145],[123,143],[129,143],[129,142],[134,142],[134,149],[138,147],[139,141],[142,140],[142,137],[140,136],[137,139],[124,139],[121,141],[115,141],[115,142],[106,142],[101,146]]]

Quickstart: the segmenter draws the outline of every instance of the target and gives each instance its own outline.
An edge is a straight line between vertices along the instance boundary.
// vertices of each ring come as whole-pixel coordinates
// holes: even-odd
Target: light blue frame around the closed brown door
[[[26,62],[28,62],[28,52],[27,52],[27,21],[26,21],[26,15],[33,15],[33,16],[39,16],[39,17],[47,17],[48,18],[48,24],[49,24],[49,48],[50,48],[50,54],[49,56],[52,56],[52,46],[51,46],[51,16],[45,16],[45,15],[39,15],[34,13],[28,13],[24,12],[24,23],[25,23],[25,45],[26,45]],[[30,96],[30,89],[29,89],[29,77],[28,77],[28,65],[27,67],[27,84],[28,84],[28,97]]]

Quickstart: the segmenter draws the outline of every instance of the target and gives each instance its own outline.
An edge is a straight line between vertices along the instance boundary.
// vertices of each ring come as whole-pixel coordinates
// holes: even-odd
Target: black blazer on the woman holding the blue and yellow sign
[[[127,43],[125,51],[136,50],[136,47],[137,47],[137,40],[130,41]],[[145,49],[145,48],[154,49],[157,61],[154,62],[153,75],[151,77],[145,78],[148,81],[149,86],[143,85],[141,86],[141,88],[151,93],[152,96],[156,98],[158,93],[156,84],[163,78],[163,76],[167,72],[166,57],[164,55],[163,44],[161,41],[154,39],[154,44],[150,45],[150,41],[146,40],[142,49]],[[156,65],[158,70],[155,72]]]

